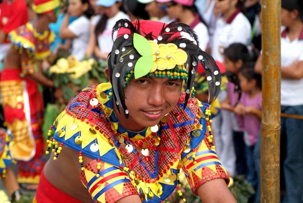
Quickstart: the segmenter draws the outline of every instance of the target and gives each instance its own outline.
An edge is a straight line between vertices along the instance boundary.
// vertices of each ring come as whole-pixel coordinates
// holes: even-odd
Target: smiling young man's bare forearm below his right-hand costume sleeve
[[[237,203],[223,179],[211,180],[200,185],[198,195],[205,203]]]

